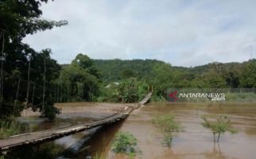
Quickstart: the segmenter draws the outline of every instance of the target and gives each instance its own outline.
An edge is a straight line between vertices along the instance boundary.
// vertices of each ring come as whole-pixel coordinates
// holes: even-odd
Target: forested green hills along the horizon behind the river
[[[94,60],[105,82],[136,77],[153,83],[161,80],[170,87],[256,87],[256,60],[243,63],[211,63],[185,68],[160,60]],[[165,78],[169,77],[169,78]]]

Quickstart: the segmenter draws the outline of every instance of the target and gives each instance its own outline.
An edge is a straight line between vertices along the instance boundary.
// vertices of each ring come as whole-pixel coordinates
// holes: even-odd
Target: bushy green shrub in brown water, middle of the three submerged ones
[[[174,115],[165,114],[154,118],[153,124],[164,134],[164,142],[170,147],[173,141],[173,133],[180,131],[179,124],[174,121]]]

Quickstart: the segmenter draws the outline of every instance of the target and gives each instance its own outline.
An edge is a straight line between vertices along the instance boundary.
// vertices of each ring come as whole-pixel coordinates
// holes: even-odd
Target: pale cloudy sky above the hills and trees
[[[157,59],[175,66],[256,58],[254,0],[55,0],[42,18],[68,25],[23,40],[69,64],[92,59]],[[251,54],[251,55],[250,55]]]

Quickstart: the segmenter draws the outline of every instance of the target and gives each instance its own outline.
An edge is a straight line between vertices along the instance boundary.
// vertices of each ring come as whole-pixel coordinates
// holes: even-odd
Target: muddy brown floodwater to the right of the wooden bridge
[[[180,123],[184,131],[174,136],[170,148],[163,144],[163,135],[152,123],[154,117],[169,113],[175,115],[176,122]],[[225,133],[221,135],[219,144],[214,144],[211,132],[201,126],[203,120],[200,117],[203,114],[226,114],[231,119],[232,126],[239,130],[238,134]],[[72,118],[68,118],[69,115]],[[34,129],[67,126],[83,120],[88,121],[90,118],[65,114],[62,118],[57,118],[57,122],[41,122],[42,125],[38,124]],[[252,159],[256,157],[256,104],[149,103],[133,111],[122,122],[60,138],[40,145],[39,149],[53,151],[53,158],[90,158],[89,156],[95,155],[102,158],[129,158],[111,151],[111,141],[118,131],[130,132],[137,138],[138,153],[135,158]],[[31,153],[34,153],[35,158],[40,158],[38,155],[42,152],[33,150]]]

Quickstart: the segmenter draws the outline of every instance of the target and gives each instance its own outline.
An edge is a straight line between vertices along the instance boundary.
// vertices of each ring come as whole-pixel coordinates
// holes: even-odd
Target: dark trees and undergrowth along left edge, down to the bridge
[[[41,18],[41,3],[47,0],[0,1],[0,138],[17,134],[15,118],[24,108],[40,110],[45,118],[58,113],[53,107],[52,81],[61,67],[51,59],[51,49],[36,52],[22,42],[28,34],[67,25],[67,21]]]

